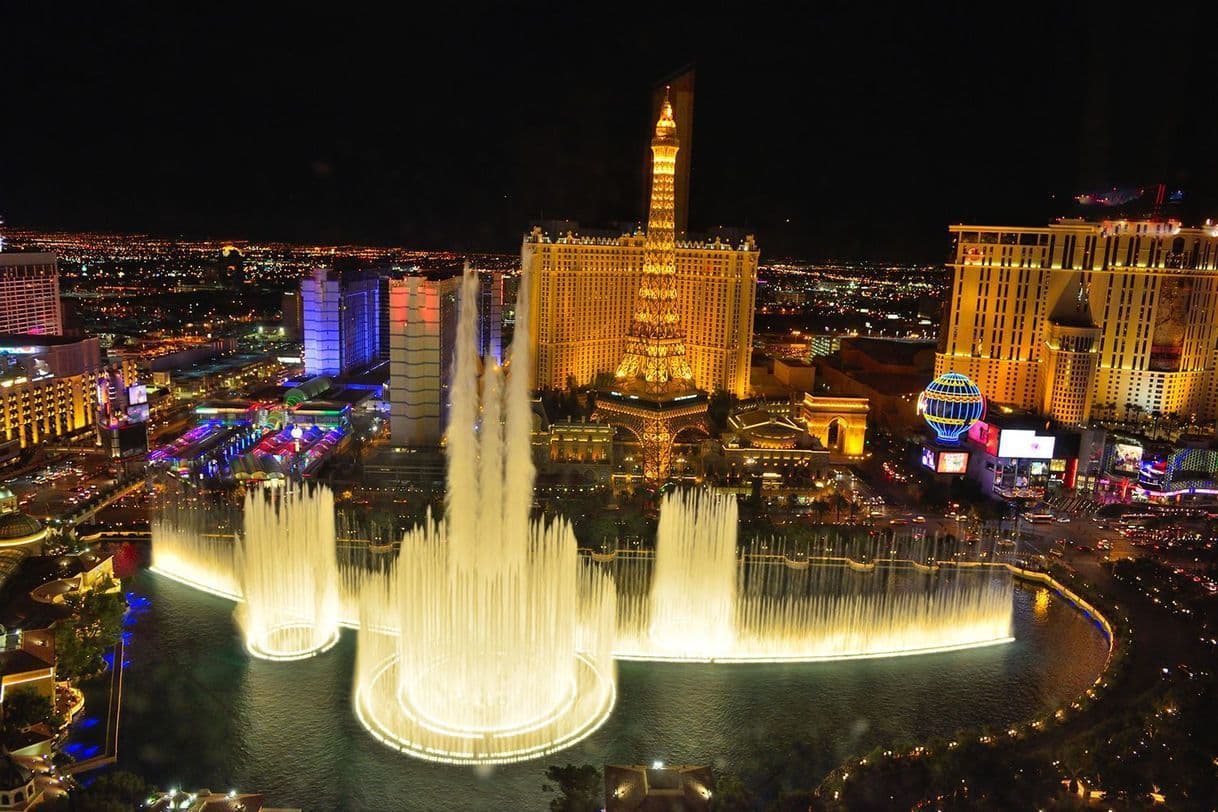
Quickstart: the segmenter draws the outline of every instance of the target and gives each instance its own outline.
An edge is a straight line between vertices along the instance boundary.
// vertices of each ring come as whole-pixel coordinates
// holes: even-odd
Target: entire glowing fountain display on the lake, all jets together
[[[581,558],[565,520],[530,516],[527,342],[512,347],[516,373],[487,359],[480,376],[476,276],[460,296],[445,515],[406,533],[396,560],[347,550],[339,564],[324,488],[255,492],[244,521],[184,489],[152,528],[153,570],[239,601],[255,656],[311,656],[358,627],[354,710],[384,744],[448,763],[554,752],[613,710],[615,656],[810,661],[1011,639],[1012,577],[994,559],[834,531],[742,553],[732,495],[666,495],[654,555]]]

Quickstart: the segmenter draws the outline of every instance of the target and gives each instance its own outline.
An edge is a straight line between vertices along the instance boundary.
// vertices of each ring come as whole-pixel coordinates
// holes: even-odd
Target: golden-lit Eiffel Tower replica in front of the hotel
[[[652,200],[643,246],[643,278],[635,315],[626,336],[626,354],[615,385],[597,394],[597,411],[609,425],[638,437],[643,478],[657,485],[672,470],[672,441],[686,430],[705,432],[706,393],[700,391],[686,359],[685,334],[677,310],[674,183],[676,122],[667,93],[652,139]]]

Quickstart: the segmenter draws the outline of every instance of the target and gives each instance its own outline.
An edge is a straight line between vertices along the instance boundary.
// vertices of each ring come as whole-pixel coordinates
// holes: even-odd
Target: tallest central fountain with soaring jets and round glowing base
[[[521,298],[526,290],[521,285]],[[462,287],[445,517],[407,533],[369,576],[359,612],[356,713],[420,758],[501,763],[594,730],[615,699],[614,589],[580,560],[565,520],[530,519],[529,351],[479,376],[477,282]],[[527,313],[527,303],[518,306]],[[516,335],[527,335],[516,325]],[[480,408],[481,407],[481,408]]]

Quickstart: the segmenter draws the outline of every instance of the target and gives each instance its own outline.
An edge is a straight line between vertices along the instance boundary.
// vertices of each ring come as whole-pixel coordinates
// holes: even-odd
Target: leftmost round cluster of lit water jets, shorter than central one
[[[324,486],[250,491],[236,617],[250,654],[301,660],[339,642],[334,495]]]

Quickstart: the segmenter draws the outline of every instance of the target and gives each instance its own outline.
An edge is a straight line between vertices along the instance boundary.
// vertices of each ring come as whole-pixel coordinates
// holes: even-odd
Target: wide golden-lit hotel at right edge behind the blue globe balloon
[[[1066,424],[1218,416],[1218,226],[954,225],[935,374]]]

